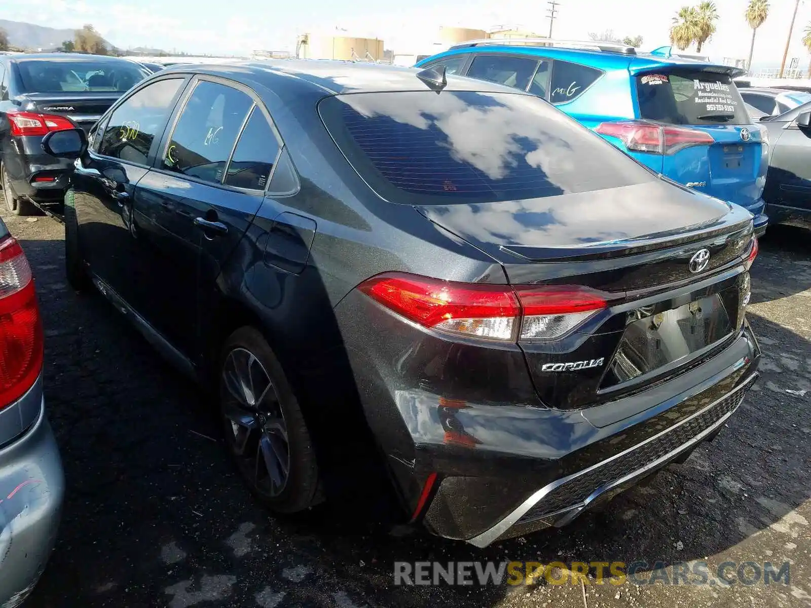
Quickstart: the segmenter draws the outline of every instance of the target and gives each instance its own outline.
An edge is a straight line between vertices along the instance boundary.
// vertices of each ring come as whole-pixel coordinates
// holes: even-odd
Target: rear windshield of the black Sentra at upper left
[[[126,60],[116,62],[21,61],[17,64],[23,92],[58,93],[79,91],[124,92],[149,75]]]

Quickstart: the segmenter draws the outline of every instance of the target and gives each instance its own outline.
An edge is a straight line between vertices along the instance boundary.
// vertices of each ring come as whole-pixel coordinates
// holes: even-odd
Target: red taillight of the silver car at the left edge
[[[31,267],[14,238],[0,241],[0,409],[23,396],[42,370],[42,323]]]

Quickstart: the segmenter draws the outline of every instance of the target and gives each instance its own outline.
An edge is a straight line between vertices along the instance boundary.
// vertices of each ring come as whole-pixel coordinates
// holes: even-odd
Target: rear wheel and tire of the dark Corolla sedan
[[[246,353],[253,359],[247,358]],[[254,395],[255,401],[255,392],[260,392],[264,397],[255,406],[247,405],[247,401],[251,399],[240,400],[234,396],[226,380],[229,374],[229,377],[234,377],[231,370],[242,366],[238,361],[243,359],[251,361],[248,363],[248,369],[252,370],[250,390],[246,390],[245,385],[240,383],[232,383],[231,386],[242,386],[242,394]],[[225,445],[253,495],[265,507],[277,513],[302,512],[320,503],[322,492],[319,470],[302,410],[281,364],[262,333],[252,327],[239,328],[232,333],[221,349],[217,370]],[[269,387],[264,386],[262,372],[268,378]],[[235,412],[243,416],[242,421],[235,422]],[[280,414],[281,423],[285,426],[284,438],[278,432]],[[246,423],[250,418],[253,418],[252,422]],[[270,428],[273,430],[268,430]],[[248,439],[251,436],[253,439]],[[286,442],[288,466],[282,486],[274,482],[274,474],[271,472],[273,467],[268,464],[268,454],[262,448],[263,440],[265,445],[272,445],[269,452],[273,456],[284,452],[280,446]],[[284,458],[278,460],[281,462]],[[267,475],[261,474],[262,467]],[[281,464],[275,469],[277,474],[283,471]]]

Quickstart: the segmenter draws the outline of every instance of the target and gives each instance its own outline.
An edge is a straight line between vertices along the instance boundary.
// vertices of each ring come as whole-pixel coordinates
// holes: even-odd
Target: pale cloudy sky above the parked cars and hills
[[[667,44],[667,30],[689,0],[560,0],[556,37],[585,38],[612,29],[620,36],[642,35],[643,49]],[[695,2],[692,3],[696,3]],[[744,21],[746,0],[716,0],[719,32],[706,45],[714,59],[746,58],[751,30]],[[779,63],[794,0],[770,0],[771,12],[757,33],[755,63]],[[419,53],[437,38],[440,25],[488,29],[519,24],[547,32],[544,0],[408,0],[408,2],[267,2],[233,0],[26,0],[6,2],[0,17],[54,28],[92,23],[115,45],[156,46],[209,54],[245,54],[251,49],[294,49],[303,32],[345,29],[356,36],[383,38],[398,53]],[[811,22],[811,0],[800,3],[789,58],[808,66],[800,45]]]

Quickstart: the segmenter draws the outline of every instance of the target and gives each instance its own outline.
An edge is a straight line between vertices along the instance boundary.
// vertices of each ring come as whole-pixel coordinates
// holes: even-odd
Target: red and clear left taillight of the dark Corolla
[[[406,319],[457,336],[552,340],[607,306],[582,287],[478,285],[405,273],[374,276],[358,289]]]

